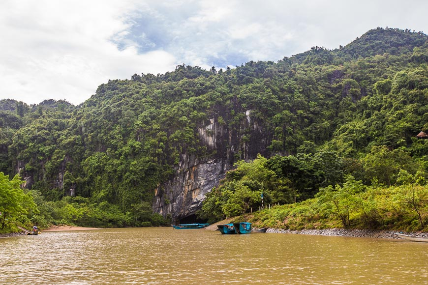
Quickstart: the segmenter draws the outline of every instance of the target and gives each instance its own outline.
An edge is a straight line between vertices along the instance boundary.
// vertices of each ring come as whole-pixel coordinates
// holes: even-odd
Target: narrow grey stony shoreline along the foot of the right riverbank
[[[344,229],[344,228],[290,230],[290,229],[269,228],[266,232],[402,239],[395,234],[396,232],[398,232],[397,230],[369,230],[369,229]],[[428,232],[401,232],[400,231],[400,233],[428,237]]]

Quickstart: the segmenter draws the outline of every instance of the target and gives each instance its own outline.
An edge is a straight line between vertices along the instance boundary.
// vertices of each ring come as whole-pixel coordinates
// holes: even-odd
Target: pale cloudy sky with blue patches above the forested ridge
[[[0,99],[79,105],[179,64],[218,70],[336,49],[370,29],[428,32],[426,0],[2,0]]]

